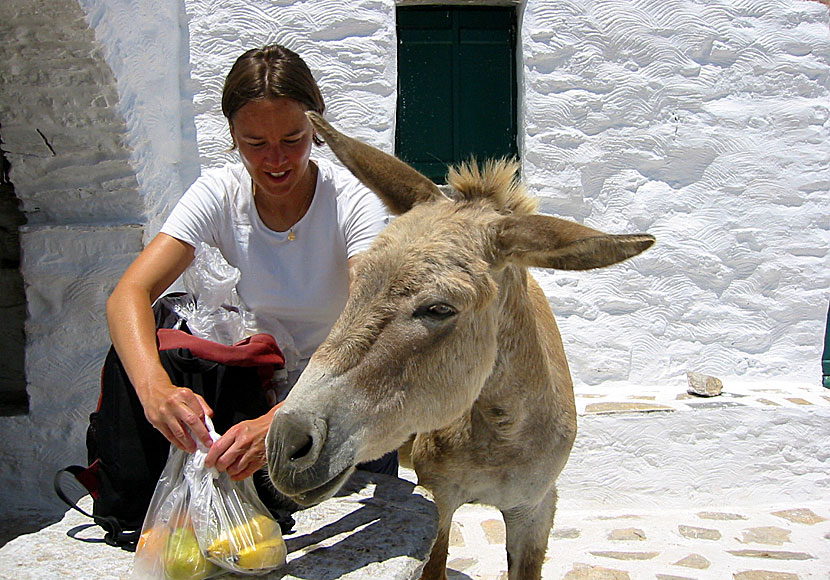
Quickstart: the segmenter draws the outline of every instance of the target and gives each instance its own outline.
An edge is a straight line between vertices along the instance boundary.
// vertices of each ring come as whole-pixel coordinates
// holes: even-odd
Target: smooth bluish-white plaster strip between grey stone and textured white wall
[[[184,6],[176,0],[79,0],[117,80],[144,241],[199,175]]]

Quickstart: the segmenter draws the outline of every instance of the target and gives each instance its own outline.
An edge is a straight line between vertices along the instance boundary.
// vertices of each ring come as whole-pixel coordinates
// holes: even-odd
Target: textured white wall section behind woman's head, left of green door
[[[235,159],[221,98],[245,50],[273,42],[300,54],[341,129],[391,152],[397,87],[393,0],[186,0],[203,166]],[[316,155],[334,157],[326,148]]]

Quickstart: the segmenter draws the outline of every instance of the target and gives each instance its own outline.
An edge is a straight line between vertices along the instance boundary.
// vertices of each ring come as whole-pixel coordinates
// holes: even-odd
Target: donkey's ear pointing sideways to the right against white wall
[[[652,244],[654,236],[649,234],[605,234],[545,215],[505,217],[497,226],[502,260],[536,268],[602,268],[636,256]]]

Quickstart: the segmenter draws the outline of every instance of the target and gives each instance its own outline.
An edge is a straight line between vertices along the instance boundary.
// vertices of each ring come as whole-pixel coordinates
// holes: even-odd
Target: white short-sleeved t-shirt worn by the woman
[[[218,248],[240,270],[237,292],[259,327],[268,332],[267,321],[279,321],[303,360],[346,304],[348,258],[367,249],[389,223],[380,199],[348,170],[325,159],[314,162],[314,198],[292,228],[293,241],[262,222],[241,163],[206,170],[161,228],[194,248],[199,242]]]

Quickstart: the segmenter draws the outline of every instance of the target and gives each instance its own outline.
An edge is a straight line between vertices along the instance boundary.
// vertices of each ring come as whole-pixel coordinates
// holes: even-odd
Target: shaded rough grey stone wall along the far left
[[[0,123],[20,207],[29,412],[0,417],[0,511],[59,505],[85,457],[104,302],[141,249],[142,199],[112,70],[75,0],[0,4]],[[4,328],[4,332],[5,332]]]

